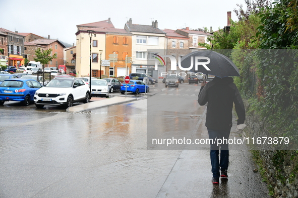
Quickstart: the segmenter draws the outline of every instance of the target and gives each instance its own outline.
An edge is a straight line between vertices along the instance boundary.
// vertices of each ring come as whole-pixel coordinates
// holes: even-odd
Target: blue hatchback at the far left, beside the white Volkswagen
[[[19,101],[24,106],[33,102],[35,91],[42,85],[31,79],[7,79],[0,84],[0,105],[6,101]]]

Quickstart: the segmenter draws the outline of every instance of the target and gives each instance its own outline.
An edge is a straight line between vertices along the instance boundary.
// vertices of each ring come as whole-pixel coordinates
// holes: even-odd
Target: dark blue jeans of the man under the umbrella
[[[227,170],[229,163],[229,151],[228,151],[228,143],[227,141],[223,141],[222,144],[217,146],[218,139],[227,139],[230,135],[231,129],[225,130],[214,130],[208,129],[209,138],[213,140],[213,144],[210,142],[210,159],[211,159],[211,172],[214,178],[219,178],[220,170]],[[220,143],[220,142],[219,142]],[[220,148],[220,160],[218,158]]]

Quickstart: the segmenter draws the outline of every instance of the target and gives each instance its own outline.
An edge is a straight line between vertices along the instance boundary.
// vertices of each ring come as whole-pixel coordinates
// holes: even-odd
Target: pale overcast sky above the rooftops
[[[244,0],[189,0],[189,1],[133,1],[133,0],[0,0],[0,27],[20,33],[33,33],[42,37],[73,44],[77,25],[111,18],[115,28],[123,29],[132,18],[133,24],[151,25],[157,20],[159,29],[198,29],[213,31],[227,25],[227,11]],[[245,7],[245,6],[244,6]]]

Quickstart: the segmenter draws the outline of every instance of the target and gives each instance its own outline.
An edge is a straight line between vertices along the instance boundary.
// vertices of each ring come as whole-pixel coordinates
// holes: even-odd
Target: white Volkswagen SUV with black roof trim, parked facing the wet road
[[[76,102],[89,103],[89,86],[80,78],[56,78],[35,92],[37,108],[44,105],[72,107]]]

